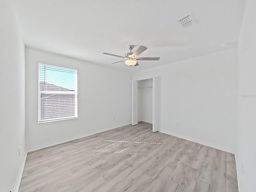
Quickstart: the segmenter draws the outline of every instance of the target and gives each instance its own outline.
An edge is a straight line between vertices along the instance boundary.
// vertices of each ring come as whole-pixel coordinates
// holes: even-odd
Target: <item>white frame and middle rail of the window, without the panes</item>
[[[75,72],[76,72],[75,73],[75,86],[76,86],[75,91],[49,91],[49,90],[42,91],[42,90],[40,90],[40,65],[75,70]],[[74,94],[74,96],[75,96],[75,105],[74,105],[75,115],[69,116],[69,117],[67,116],[67,117],[49,118],[46,120],[41,120],[41,94]],[[74,68],[63,67],[63,66],[38,63],[38,124],[78,118],[78,104],[77,103],[78,103],[78,70],[74,69]]]

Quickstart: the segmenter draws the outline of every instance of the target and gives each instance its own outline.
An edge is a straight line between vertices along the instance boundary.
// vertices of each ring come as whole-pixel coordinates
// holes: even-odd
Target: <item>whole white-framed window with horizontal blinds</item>
[[[38,123],[77,118],[77,70],[39,64]]]

